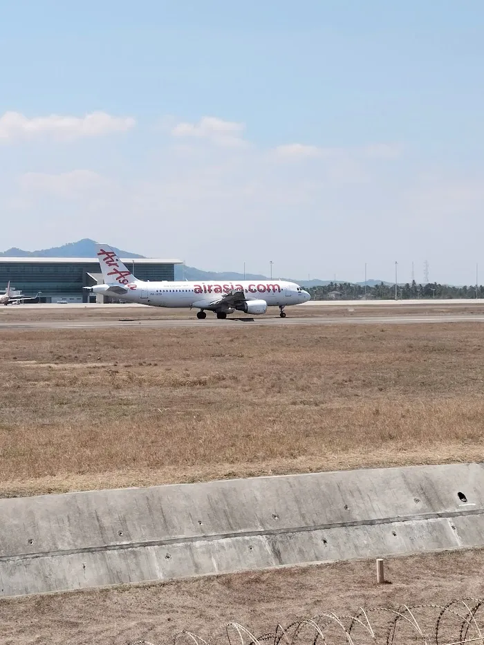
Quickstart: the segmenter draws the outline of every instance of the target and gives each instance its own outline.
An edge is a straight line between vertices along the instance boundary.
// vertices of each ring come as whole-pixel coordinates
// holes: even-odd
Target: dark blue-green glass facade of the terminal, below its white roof
[[[127,262],[127,267],[140,280],[174,281],[174,264]],[[93,262],[49,262],[2,261],[0,258],[0,290],[10,281],[12,289],[21,291],[26,297],[35,297],[41,291],[41,299],[56,301],[59,298],[83,299],[87,301],[84,286],[92,285],[88,274],[99,274],[99,263]]]

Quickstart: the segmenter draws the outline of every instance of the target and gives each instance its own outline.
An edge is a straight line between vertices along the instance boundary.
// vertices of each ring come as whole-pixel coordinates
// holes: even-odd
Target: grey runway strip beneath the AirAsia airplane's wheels
[[[411,325],[445,323],[484,323],[484,315],[436,315],[436,316],[360,316],[360,317],[308,317],[308,318],[216,318],[198,319],[118,319],[118,320],[57,320],[29,322],[0,322],[0,329],[97,329],[97,328],[198,328],[247,327],[247,326],[308,326],[308,325]]]

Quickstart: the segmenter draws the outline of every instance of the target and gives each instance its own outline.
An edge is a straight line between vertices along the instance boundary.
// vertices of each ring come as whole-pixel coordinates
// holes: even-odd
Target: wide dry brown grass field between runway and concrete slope
[[[482,460],[483,331],[1,330],[0,494]]]

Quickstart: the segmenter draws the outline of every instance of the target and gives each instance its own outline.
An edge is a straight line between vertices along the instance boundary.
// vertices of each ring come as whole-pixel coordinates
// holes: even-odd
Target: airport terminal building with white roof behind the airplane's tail
[[[175,265],[181,260],[152,258],[121,259],[140,280],[174,280]],[[39,294],[40,302],[95,301],[95,295],[83,289],[102,284],[97,258],[0,257],[0,290],[10,281],[12,289],[26,297]]]

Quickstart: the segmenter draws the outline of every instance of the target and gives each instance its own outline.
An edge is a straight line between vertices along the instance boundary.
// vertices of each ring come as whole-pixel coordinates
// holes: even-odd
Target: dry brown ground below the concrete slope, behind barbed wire
[[[145,639],[154,645],[173,642],[180,630],[205,638],[210,645],[227,645],[224,627],[236,621],[258,637],[274,633],[298,618],[333,611],[354,615],[360,607],[399,608],[421,604],[445,605],[452,599],[484,597],[484,551],[422,555],[386,561],[389,584],[375,584],[375,562],[353,561],[309,568],[290,568],[230,576],[24,597],[0,601],[2,645],[126,645]],[[439,611],[413,610],[422,630],[435,643]],[[371,624],[382,638],[387,613],[371,613]],[[481,628],[484,615],[476,615]],[[346,621],[347,622],[347,621]],[[444,642],[457,640],[454,631]],[[232,643],[240,643],[230,632]],[[314,633],[313,633],[314,634]],[[355,645],[368,644],[355,636]],[[454,642],[455,642],[454,640]],[[250,639],[245,642],[248,644]],[[270,644],[274,642],[268,641]],[[312,645],[306,630],[299,645]],[[422,643],[414,630],[400,627],[395,645]],[[185,636],[177,643],[193,644]],[[333,630],[328,643],[346,645]]]

